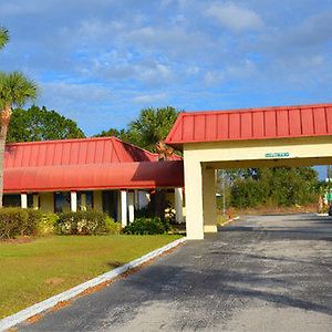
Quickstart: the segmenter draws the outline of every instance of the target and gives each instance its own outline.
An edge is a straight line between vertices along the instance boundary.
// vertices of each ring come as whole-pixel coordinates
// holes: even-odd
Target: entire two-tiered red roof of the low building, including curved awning
[[[184,186],[181,160],[115,137],[8,144],[3,176],[4,193]]]

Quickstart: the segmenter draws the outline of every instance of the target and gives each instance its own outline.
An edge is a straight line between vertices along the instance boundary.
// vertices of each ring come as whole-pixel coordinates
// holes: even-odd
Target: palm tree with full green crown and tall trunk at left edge
[[[0,72],[0,208],[3,196],[3,158],[8,126],[13,106],[22,106],[33,101],[38,94],[37,84],[27,79],[21,72]]]

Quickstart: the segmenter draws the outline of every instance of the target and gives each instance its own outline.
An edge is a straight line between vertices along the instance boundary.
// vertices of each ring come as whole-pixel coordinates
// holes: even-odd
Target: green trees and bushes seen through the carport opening
[[[322,183],[312,167],[231,169],[224,170],[224,174],[219,172],[218,191],[221,200],[225,195],[226,207],[307,206],[318,203],[321,190]]]

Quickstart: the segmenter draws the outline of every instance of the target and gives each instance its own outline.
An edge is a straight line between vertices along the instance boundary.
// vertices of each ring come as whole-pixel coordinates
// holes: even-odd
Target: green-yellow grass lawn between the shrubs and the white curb
[[[179,236],[53,236],[0,241],[0,319],[126,263]]]

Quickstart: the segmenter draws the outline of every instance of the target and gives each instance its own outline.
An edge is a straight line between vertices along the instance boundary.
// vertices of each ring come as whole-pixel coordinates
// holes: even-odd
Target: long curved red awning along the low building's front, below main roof
[[[4,193],[183,186],[180,160],[15,167],[4,172]]]

